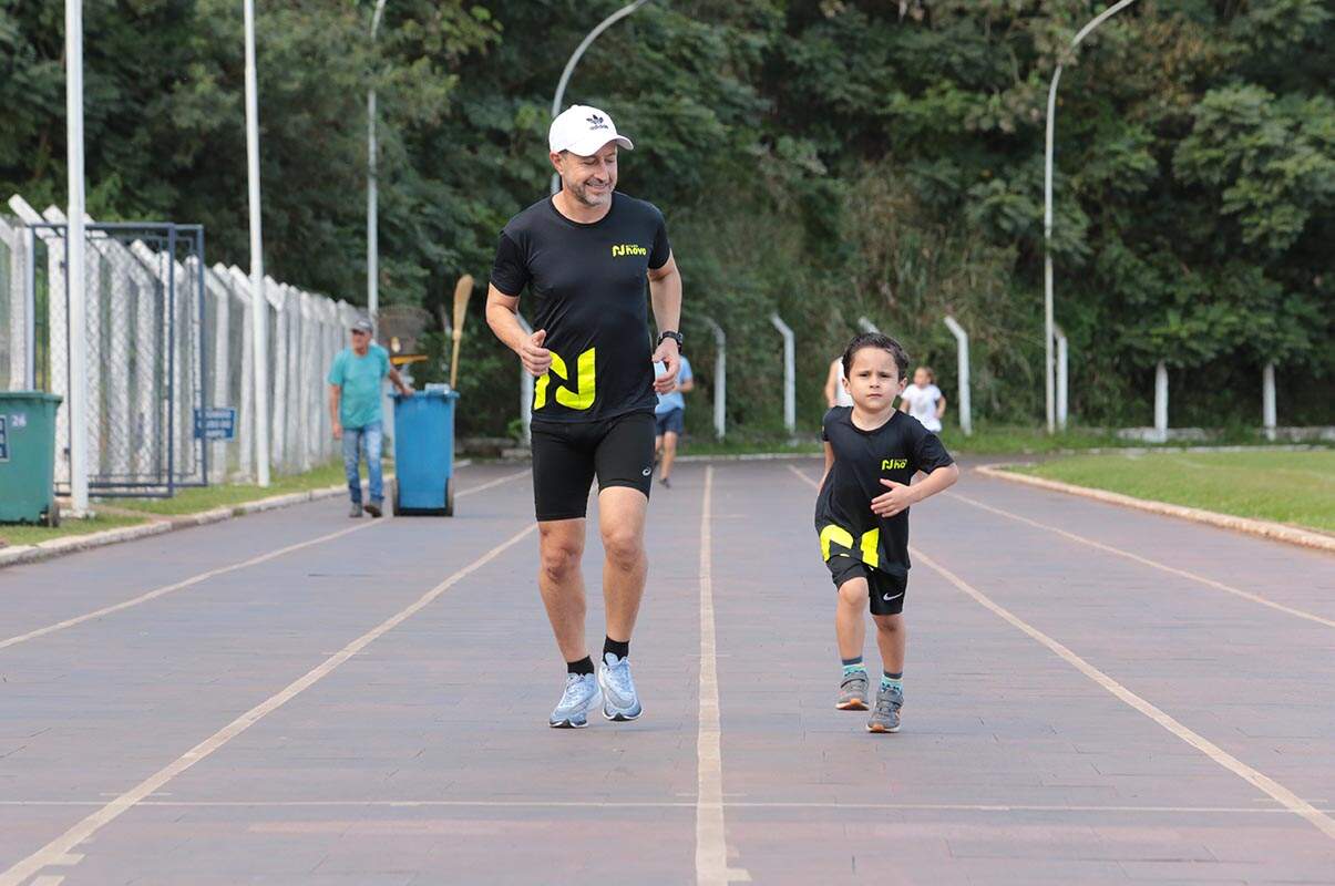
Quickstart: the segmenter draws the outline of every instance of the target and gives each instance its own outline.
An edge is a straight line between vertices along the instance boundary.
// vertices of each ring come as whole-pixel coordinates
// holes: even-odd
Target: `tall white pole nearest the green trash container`
[[[88,512],[88,320],[84,292],[83,0],[65,0],[65,151],[69,183],[65,286],[69,291],[69,494]]]

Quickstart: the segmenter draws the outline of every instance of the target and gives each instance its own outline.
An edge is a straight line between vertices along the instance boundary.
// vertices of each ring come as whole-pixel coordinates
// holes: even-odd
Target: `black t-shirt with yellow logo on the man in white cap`
[[[533,328],[547,331],[551,370],[534,384],[534,420],[653,412],[658,398],[645,275],[670,255],[662,212],[621,192],[591,224],[561,215],[551,197],[510,219],[491,283],[509,296],[527,286]]]

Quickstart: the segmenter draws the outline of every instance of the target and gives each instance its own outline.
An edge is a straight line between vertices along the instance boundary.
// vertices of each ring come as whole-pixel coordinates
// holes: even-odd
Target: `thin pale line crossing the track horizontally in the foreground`
[[[1270,802],[1270,798],[1258,798]],[[97,801],[0,801],[0,807],[103,806]],[[143,801],[163,809],[696,809],[694,801],[557,801],[557,799],[291,799],[291,801]],[[1292,815],[1278,806],[1061,806],[1029,803],[837,803],[724,801],[725,809],[848,809],[908,813],[1159,813],[1211,815]],[[1323,813],[1335,810],[1322,809]]]

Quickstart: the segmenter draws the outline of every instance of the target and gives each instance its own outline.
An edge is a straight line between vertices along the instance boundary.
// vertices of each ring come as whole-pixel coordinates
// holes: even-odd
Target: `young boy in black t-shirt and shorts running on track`
[[[870,599],[881,686],[866,723],[872,733],[897,733],[904,705],[904,591],[909,571],[909,506],[960,478],[941,440],[894,408],[904,391],[909,358],[894,339],[862,334],[844,351],[844,376],[853,406],[825,414],[825,476],[816,498],[821,555],[838,588],[834,632],[844,659],[836,707],[866,710],[862,664]],[[909,486],[918,471],[926,474]]]

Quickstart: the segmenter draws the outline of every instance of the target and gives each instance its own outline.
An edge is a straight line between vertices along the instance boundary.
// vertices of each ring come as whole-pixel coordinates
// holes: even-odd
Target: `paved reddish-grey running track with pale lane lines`
[[[578,731],[519,467],[0,570],[0,886],[1335,882],[1335,558],[965,471],[873,737],[818,470],[655,488],[646,713]]]

